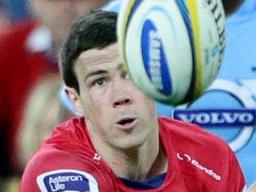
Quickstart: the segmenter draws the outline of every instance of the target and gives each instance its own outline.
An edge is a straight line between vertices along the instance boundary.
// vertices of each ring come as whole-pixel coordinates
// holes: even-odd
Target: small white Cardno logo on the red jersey
[[[192,159],[188,154],[182,154],[182,153],[177,153],[177,158],[180,159],[181,161],[187,161],[189,163],[191,163],[193,166],[195,166],[196,168],[202,170],[203,172],[205,172],[206,174],[212,176],[214,179],[216,179],[217,181],[220,181],[220,179],[222,179],[222,177],[220,175],[218,175],[217,173],[215,173],[212,169],[206,168],[205,166],[203,166],[202,164],[200,164],[198,161],[196,161],[195,159]]]

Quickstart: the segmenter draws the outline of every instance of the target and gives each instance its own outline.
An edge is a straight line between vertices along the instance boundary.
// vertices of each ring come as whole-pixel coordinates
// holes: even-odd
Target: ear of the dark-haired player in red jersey
[[[81,106],[80,96],[77,93],[76,89],[69,88],[68,86],[66,86],[64,89],[65,89],[65,93],[68,96],[68,99],[69,99],[74,111],[76,111],[76,114],[78,116],[83,117],[84,110],[83,110],[83,107]]]

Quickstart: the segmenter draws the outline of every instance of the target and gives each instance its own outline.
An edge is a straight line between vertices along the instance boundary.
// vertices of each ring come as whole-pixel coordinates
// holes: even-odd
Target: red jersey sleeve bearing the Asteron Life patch
[[[110,174],[67,152],[36,154],[21,179],[20,192],[115,191]]]

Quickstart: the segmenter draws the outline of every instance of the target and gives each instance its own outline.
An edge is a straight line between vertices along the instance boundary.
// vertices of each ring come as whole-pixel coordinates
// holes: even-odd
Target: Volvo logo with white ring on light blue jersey
[[[191,109],[191,104],[184,104],[173,109],[171,116],[200,126],[241,127],[240,133],[228,142],[233,151],[238,151],[248,143],[256,126],[256,80],[235,83],[226,79],[217,79],[208,91],[223,91],[231,94],[242,104],[242,108]]]

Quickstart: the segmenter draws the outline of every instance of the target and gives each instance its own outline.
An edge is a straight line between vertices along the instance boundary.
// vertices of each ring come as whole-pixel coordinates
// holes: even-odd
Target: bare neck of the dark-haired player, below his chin
[[[101,143],[95,135],[91,138],[96,151],[118,177],[143,181],[167,171],[167,158],[160,145],[158,128],[153,129],[141,146],[129,149]]]

